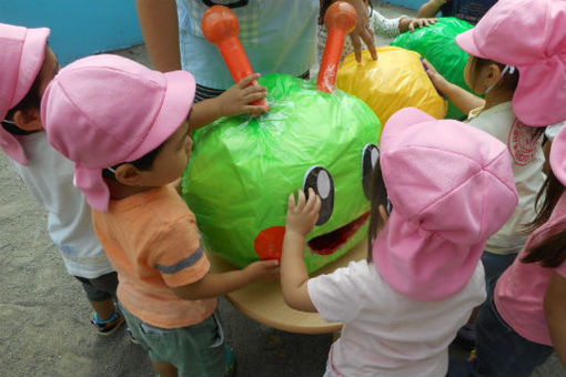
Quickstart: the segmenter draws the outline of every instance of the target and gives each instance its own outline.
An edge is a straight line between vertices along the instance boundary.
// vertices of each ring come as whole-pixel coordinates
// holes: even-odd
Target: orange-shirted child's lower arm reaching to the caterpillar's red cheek
[[[200,281],[172,287],[183,299],[203,299],[224,295],[253,282],[269,282],[279,277],[279,261],[257,261],[243,269],[222,274],[206,274]]]

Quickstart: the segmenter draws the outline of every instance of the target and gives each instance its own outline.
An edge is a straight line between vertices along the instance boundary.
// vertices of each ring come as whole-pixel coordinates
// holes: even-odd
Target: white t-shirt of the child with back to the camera
[[[484,268],[456,295],[421,303],[397,293],[366,261],[309,281],[309,295],[327,322],[342,322],[325,376],[444,377],[448,345],[485,300]]]

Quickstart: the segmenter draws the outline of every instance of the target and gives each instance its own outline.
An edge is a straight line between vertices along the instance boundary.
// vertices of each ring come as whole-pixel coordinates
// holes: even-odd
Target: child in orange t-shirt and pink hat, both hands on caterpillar
[[[279,274],[276,261],[209,273],[195,217],[170,185],[188,163],[192,129],[263,110],[247,105],[266,95],[247,86],[257,78],[192,105],[189,72],[161,73],[103,54],[61,70],[41,103],[49,140],[74,162],[75,185],[119,274],[127,323],[163,377],[223,376],[215,297]]]

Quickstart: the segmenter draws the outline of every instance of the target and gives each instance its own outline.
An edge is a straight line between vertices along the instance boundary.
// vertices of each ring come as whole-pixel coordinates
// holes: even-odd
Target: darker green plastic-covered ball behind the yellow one
[[[406,32],[393,40],[392,45],[413,50],[428,60],[446,80],[472,92],[464,81],[464,68],[469,54],[456,43],[456,35],[474,26],[455,17],[443,17],[435,24]],[[464,114],[454,103],[448,101],[446,118],[462,120]]]

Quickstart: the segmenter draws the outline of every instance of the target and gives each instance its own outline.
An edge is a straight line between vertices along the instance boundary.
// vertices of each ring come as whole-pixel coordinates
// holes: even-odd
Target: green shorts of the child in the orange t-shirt
[[[144,323],[119,305],[132,335],[152,361],[174,365],[180,377],[224,376],[226,350],[216,313],[193,326],[161,328]]]

